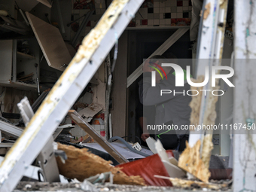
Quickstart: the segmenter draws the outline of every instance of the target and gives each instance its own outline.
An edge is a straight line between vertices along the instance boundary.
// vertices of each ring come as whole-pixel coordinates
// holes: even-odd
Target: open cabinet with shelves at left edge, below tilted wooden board
[[[20,46],[26,44],[26,48],[18,50]],[[0,40],[0,85],[3,87],[15,87],[20,90],[37,91],[35,79],[38,78],[39,69],[35,63],[39,63],[39,47],[35,38],[24,38],[23,40],[9,39]],[[29,84],[26,79],[19,80],[18,74],[32,75]]]

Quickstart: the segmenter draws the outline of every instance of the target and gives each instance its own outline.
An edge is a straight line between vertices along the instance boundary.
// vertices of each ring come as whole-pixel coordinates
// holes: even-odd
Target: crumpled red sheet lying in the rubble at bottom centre
[[[168,157],[174,157],[172,150],[166,151]],[[145,157],[141,160],[135,160],[130,163],[124,163],[118,165],[117,167],[122,167],[122,171],[126,175],[140,175],[144,178],[145,183],[153,186],[172,186],[171,181],[163,178],[155,178],[154,175],[162,175],[169,177],[166,168],[163,166],[162,161],[158,154],[151,155],[150,157]]]

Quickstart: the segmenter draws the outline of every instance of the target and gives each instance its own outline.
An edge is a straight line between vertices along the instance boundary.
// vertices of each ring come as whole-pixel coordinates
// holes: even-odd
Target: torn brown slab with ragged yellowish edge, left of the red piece
[[[145,181],[140,176],[127,176],[120,168],[110,165],[110,161],[91,154],[86,148],[78,149],[73,146],[58,144],[58,149],[65,151],[68,159],[62,163],[57,157],[59,173],[67,178],[77,178],[84,181],[85,178],[97,175],[102,172],[112,172],[114,184],[139,184],[145,185]]]

